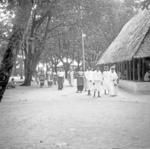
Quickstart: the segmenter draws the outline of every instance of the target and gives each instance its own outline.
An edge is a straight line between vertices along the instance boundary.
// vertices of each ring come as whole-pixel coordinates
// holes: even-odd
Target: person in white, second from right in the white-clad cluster
[[[104,93],[105,95],[109,94],[109,67],[104,66],[104,71],[103,71],[103,88],[104,88]]]

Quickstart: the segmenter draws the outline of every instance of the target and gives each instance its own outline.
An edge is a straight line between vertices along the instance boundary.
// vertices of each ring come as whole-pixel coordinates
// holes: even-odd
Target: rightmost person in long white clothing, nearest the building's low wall
[[[112,97],[117,95],[117,82],[118,75],[115,71],[115,65],[113,65],[109,72],[109,95]]]

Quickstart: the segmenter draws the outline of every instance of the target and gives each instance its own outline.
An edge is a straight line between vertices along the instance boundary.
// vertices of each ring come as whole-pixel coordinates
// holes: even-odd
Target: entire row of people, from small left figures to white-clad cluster
[[[55,76],[55,77],[54,77]],[[51,86],[57,80],[58,90],[62,90],[65,81],[65,72],[61,68],[58,70],[57,74],[52,73],[47,74],[47,84]],[[115,65],[108,68],[104,66],[104,71],[102,72],[98,67],[93,69],[87,69],[85,72],[78,71],[75,72],[70,69],[68,73],[68,82],[70,86],[74,86],[74,80],[76,78],[77,92],[87,91],[87,94],[93,95],[93,97],[101,97],[103,94],[116,96],[117,95],[117,85],[119,77],[115,71]],[[40,87],[44,86],[45,76],[43,73],[39,75]]]

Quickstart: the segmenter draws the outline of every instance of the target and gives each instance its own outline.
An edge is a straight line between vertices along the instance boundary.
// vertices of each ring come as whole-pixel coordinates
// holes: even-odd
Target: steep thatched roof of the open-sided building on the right
[[[131,60],[133,57],[150,56],[150,11],[134,16],[103,53],[98,64]]]

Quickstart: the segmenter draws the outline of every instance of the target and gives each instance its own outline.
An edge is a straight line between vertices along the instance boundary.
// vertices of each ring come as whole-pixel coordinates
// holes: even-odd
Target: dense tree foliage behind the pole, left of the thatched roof
[[[24,2],[21,0],[9,2],[16,16],[19,16],[16,7],[22,6]],[[135,13],[134,0],[124,2],[115,0],[41,0],[33,2],[28,0],[28,5],[29,2],[30,5],[36,7],[32,14],[30,29],[24,40],[24,42],[30,41],[28,46],[31,46],[23,49],[25,52],[28,51],[29,55],[32,54],[32,58],[36,57],[37,62],[40,58],[48,62],[55,60],[55,63],[59,61],[64,63],[64,58],[76,59],[80,62],[82,60],[81,30],[83,30],[86,34],[86,61],[88,65],[91,65]],[[24,5],[27,6],[27,3]],[[24,7],[22,10],[27,11],[27,9]],[[24,24],[23,20],[19,21]],[[19,24],[17,20],[15,22]],[[32,49],[28,50],[28,48]]]

